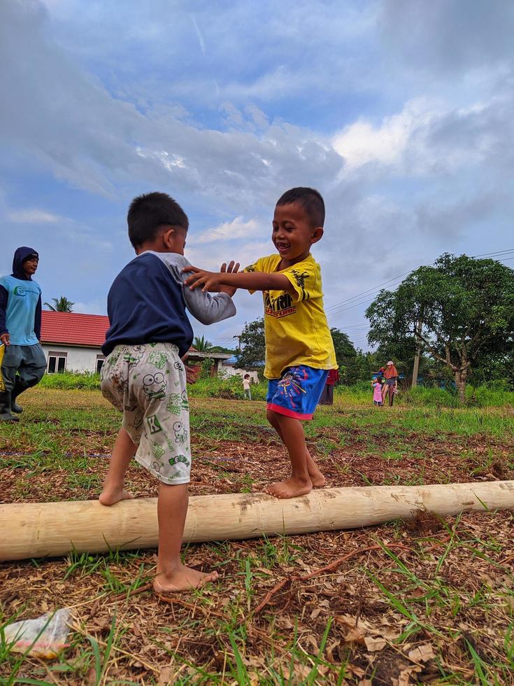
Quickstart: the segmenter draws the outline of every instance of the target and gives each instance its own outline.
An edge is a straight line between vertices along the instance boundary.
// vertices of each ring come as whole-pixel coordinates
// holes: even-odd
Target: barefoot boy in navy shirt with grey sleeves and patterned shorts
[[[110,328],[102,346],[101,392],[123,412],[108,475],[99,498],[113,505],[131,494],[124,475],[131,459],[159,479],[157,594],[198,588],[217,573],[180,561],[187,514],[191,450],[186,391],[187,354],[193,331],[186,308],[201,323],[234,316],[234,288],[209,295],[183,286],[189,221],[165,193],[136,197],[127,216],[136,258],[122,269],[107,300]]]

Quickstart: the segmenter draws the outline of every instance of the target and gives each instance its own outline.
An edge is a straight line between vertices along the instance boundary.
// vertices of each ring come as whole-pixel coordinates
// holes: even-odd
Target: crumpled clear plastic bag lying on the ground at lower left
[[[50,660],[65,647],[69,633],[68,608],[46,612],[37,619],[23,619],[3,627],[6,644],[12,652]],[[10,645],[11,644],[11,645]]]

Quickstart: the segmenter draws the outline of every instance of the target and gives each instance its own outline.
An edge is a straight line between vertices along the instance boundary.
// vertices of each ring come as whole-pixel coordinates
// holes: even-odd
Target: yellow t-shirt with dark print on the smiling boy
[[[265,290],[264,332],[266,335],[267,379],[279,379],[294,365],[315,369],[336,369],[336,353],[323,309],[321,269],[312,255],[296,265],[277,271],[280,255],[259,258],[245,272],[284,274],[294,288]],[[254,291],[250,291],[253,293]]]

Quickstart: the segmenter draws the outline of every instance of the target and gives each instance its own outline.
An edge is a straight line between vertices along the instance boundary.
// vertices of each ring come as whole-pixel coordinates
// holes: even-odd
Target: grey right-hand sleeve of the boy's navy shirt
[[[185,304],[191,314],[202,324],[228,319],[236,314],[236,306],[227,293],[203,293],[200,288],[190,290],[184,285],[187,274],[182,270],[191,264],[183,255],[177,253],[155,253],[159,255],[171,272],[173,279],[180,284]]]

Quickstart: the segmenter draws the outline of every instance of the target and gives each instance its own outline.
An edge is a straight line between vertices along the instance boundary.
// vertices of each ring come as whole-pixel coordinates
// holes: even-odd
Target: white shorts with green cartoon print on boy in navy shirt
[[[136,461],[163,484],[190,482],[185,367],[171,343],[117,345],[101,368],[101,393],[123,412]]]

